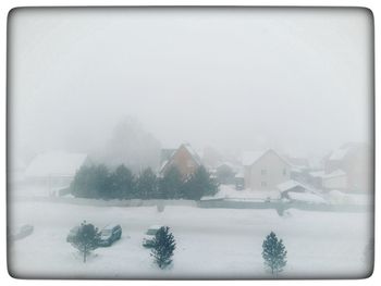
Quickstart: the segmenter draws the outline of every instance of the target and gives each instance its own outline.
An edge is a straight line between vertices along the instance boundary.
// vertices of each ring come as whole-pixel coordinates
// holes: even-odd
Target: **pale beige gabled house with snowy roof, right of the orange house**
[[[244,152],[245,188],[275,190],[280,183],[288,181],[292,165],[274,150]]]

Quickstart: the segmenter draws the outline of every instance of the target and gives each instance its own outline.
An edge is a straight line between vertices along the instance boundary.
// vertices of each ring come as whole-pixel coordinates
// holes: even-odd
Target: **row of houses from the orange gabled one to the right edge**
[[[235,185],[237,190],[367,194],[372,189],[371,151],[366,145],[343,145],[322,161],[322,167],[317,170],[310,167],[307,159],[267,149],[243,152],[241,163],[224,161],[210,166],[188,144],[183,144],[177,149],[163,150],[159,174],[176,166],[185,177],[205,165],[220,184]]]

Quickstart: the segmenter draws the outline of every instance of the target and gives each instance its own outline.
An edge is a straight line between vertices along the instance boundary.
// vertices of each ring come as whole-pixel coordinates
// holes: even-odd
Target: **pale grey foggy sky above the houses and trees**
[[[91,150],[125,116],[163,147],[308,156],[369,142],[371,21],[356,9],[15,10],[12,146]]]

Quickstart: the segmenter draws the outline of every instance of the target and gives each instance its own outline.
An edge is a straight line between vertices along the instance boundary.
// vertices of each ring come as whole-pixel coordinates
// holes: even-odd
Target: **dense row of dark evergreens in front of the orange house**
[[[218,184],[200,166],[186,178],[173,166],[162,177],[151,169],[135,175],[125,165],[111,171],[105,164],[84,165],[70,186],[77,198],[91,199],[189,199],[199,200],[218,191]]]

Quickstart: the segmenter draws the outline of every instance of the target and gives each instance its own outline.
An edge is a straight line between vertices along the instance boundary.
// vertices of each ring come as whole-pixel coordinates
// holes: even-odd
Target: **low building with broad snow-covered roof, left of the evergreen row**
[[[49,194],[69,187],[76,171],[88,163],[87,154],[47,152],[36,156],[25,170],[25,182]]]

